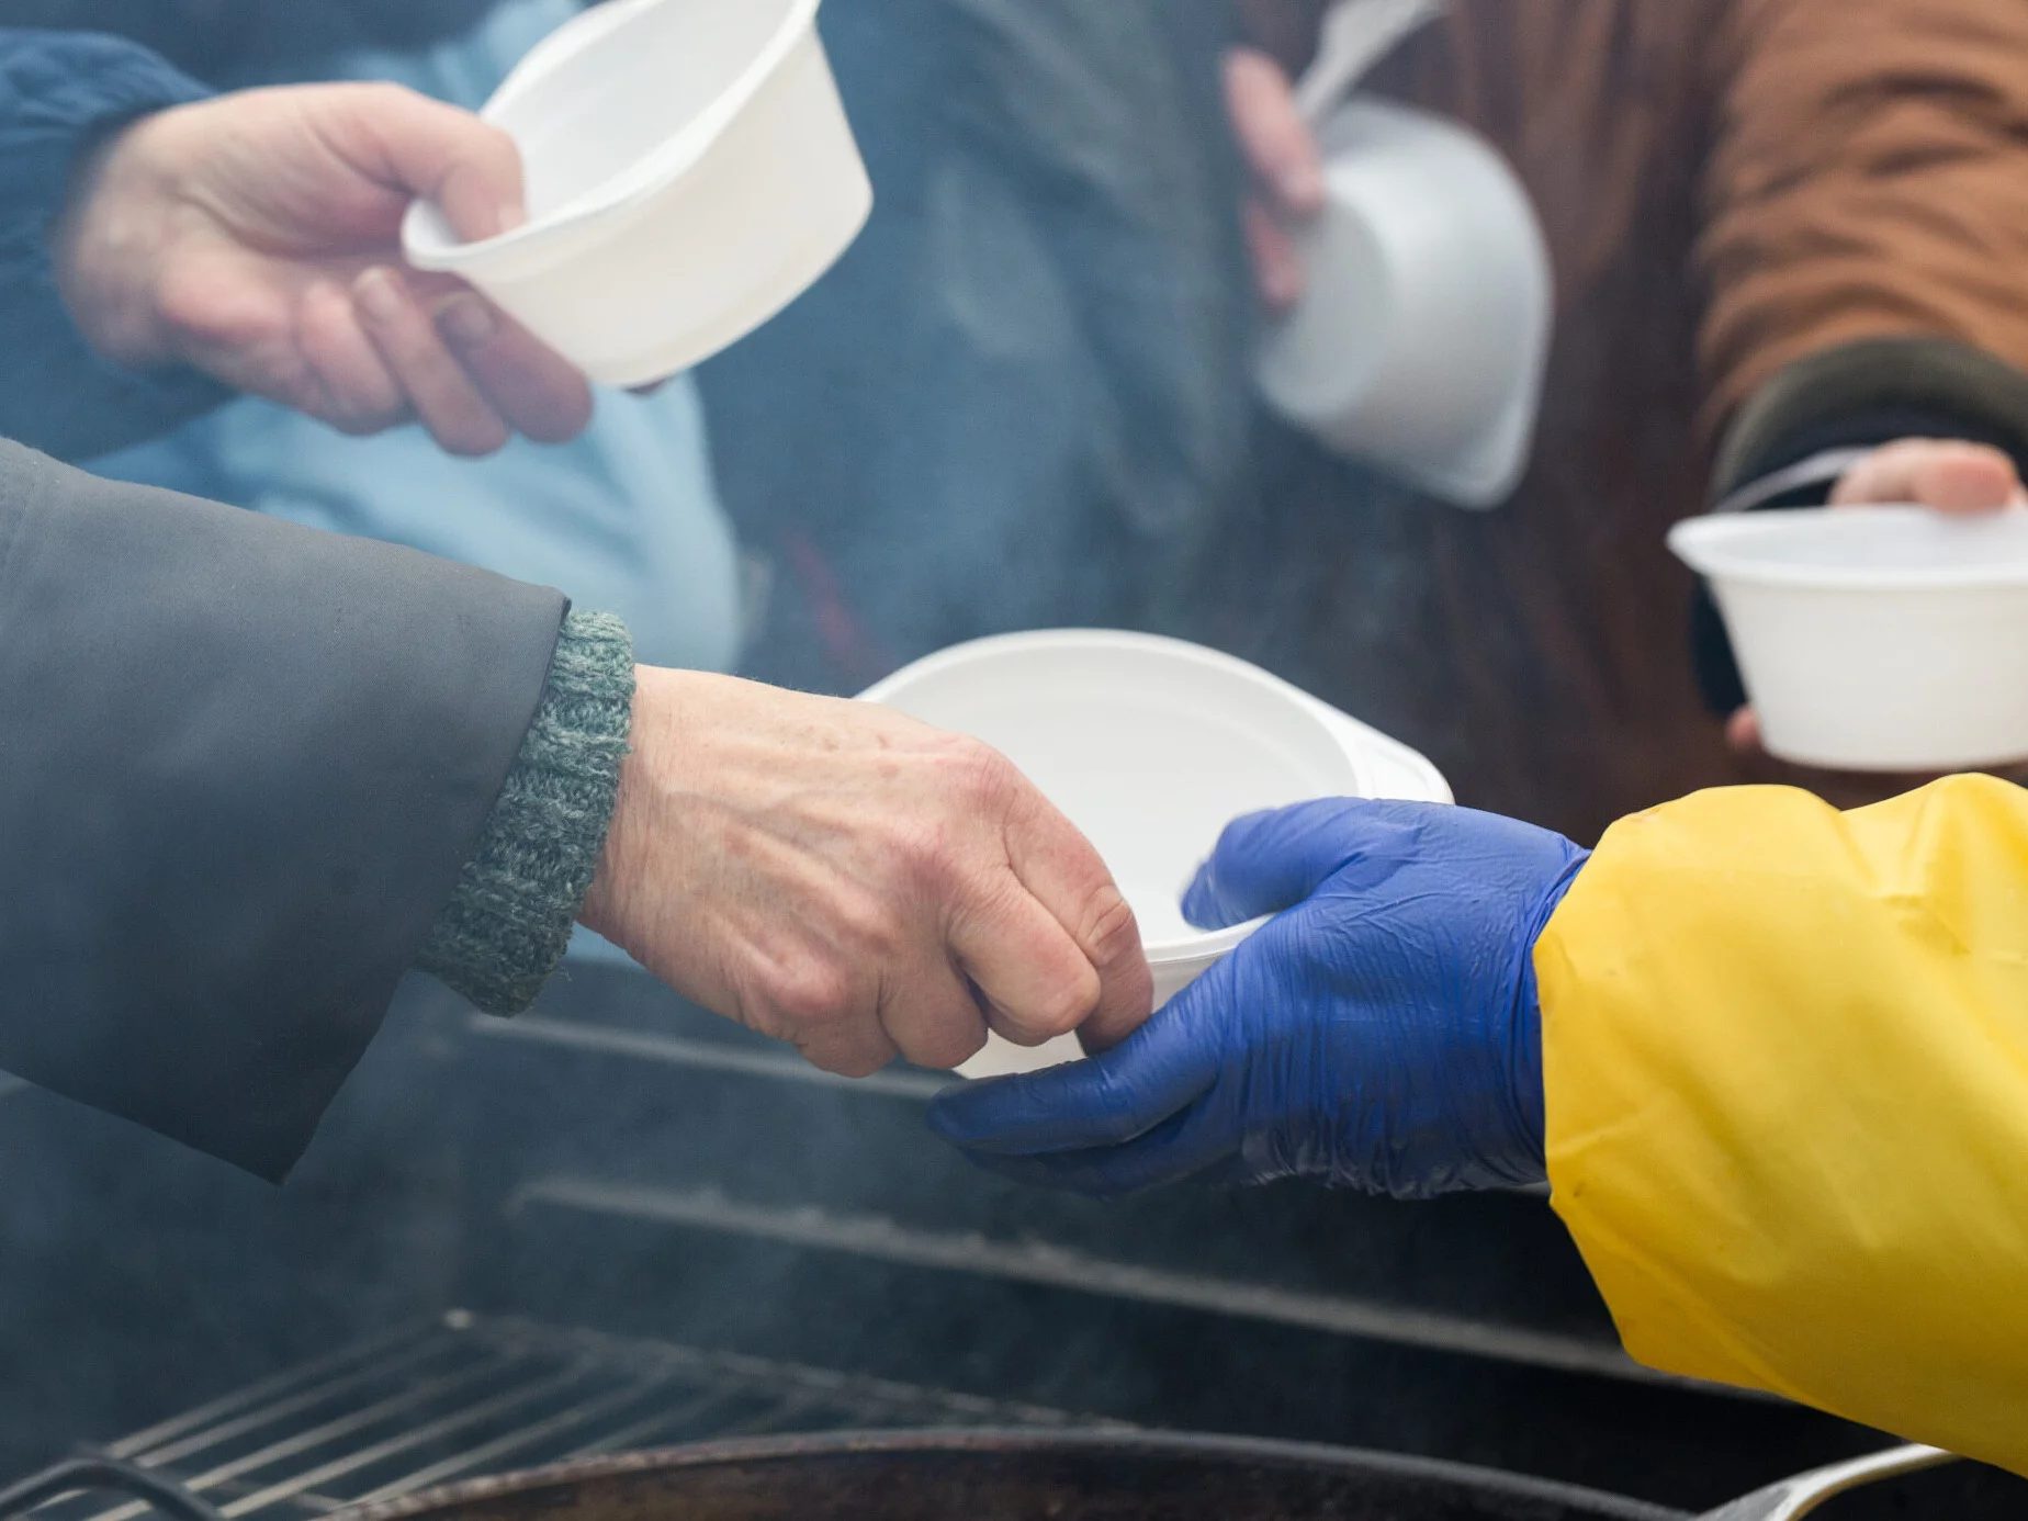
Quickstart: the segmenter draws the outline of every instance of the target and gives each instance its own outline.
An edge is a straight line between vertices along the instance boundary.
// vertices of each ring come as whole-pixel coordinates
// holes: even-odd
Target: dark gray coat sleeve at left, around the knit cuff
[[[286,1174],[450,896],[564,612],[0,444],[0,1069]]]

